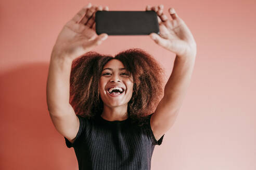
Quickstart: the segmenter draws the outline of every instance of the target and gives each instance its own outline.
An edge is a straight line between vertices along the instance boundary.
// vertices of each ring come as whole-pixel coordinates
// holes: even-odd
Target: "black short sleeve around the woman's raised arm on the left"
[[[75,136],[75,140],[73,142],[73,144],[66,138],[65,138],[65,141],[66,141],[66,145],[68,148],[71,148],[71,147],[75,147],[76,145],[78,145],[80,143],[80,140],[81,140],[81,136],[85,130],[85,127],[86,127],[86,120],[79,116],[79,115],[76,115],[78,118],[79,118],[79,130],[78,130],[78,133],[76,134]]]

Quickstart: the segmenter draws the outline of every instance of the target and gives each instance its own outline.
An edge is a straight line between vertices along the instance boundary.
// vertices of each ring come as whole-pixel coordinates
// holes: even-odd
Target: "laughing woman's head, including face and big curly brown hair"
[[[127,104],[127,116],[142,125],[163,96],[163,78],[163,69],[142,49],[114,57],[90,51],[72,63],[70,104],[77,115],[88,119],[101,114],[107,119],[107,106]],[[108,88],[115,86],[124,89],[120,96],[109,95]]]

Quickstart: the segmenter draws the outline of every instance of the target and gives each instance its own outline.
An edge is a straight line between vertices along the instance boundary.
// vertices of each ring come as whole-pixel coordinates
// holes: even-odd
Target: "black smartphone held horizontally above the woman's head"
[[[108,35],[159,34],[157,13],[150,11],[96,11],[96,33]]]

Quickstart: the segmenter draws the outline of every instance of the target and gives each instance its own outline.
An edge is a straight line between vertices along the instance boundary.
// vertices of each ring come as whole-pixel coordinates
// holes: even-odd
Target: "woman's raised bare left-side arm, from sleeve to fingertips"
[[[50,58],[46,88],[48,111],[58,132],[69,140],[75,137],[79,129],[79,119],[69,104],[72,61],[108,37],[107,34],[96,34],[97,10],[103,9],[88,4],[63,26]],[[108,7],[104,10],[108,10]]]

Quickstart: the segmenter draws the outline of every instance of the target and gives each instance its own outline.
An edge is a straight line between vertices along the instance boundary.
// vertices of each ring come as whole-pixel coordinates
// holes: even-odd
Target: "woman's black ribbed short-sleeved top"
[[[68,148],[73,147],[80,170],[149,170],[157,141],[150,127],[150,118],[143,126],[123,121],[107,121],[101,116],[88,120],[78,116],[80,127],[73,144],[65,137]]]

